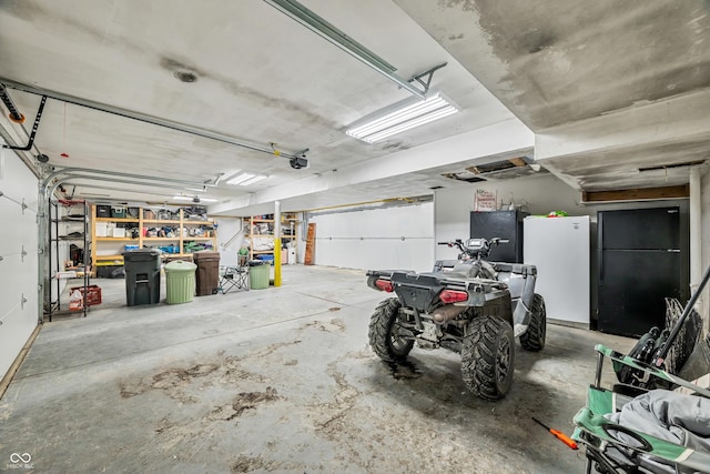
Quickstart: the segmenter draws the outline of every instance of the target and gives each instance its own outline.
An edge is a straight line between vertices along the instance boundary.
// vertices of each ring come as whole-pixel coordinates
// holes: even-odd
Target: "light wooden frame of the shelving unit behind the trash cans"
[[[212,248],[216,249],[217,238],[216,231],[214,230],[214,221],[187,219],[184,216],[182,209],[179,211],[180,219],[143,219],[144,208],[138,209],[138,218],[104,218],[97,215],[95,204],[91,206],[91,241],[93,242],[91,246],[91,261],[94,265],[105,264],[106,262],[122,265],[122,253],[125,245],[138,245],[139,249],[150,246],[176,246],[179,252],[163,254],[166,259],[192,259],[192,252],[184,251],[185,244],[189,242],[211,242]],[[129,224],[129,226],[133,224],[131,228],[138,229],[138,236],[98,236],[97,224],[102,222],[106,224]],[[176,234],[172,236],[148,236],[146,230],[154,228],[173,228],[176,229]],[[210,230],[204,230],[204,232],[209,232],[209,235],[189,235],[191,229],[199,228],[211,228]],[[113,249],[115,249],[115,252],[104,252]]]

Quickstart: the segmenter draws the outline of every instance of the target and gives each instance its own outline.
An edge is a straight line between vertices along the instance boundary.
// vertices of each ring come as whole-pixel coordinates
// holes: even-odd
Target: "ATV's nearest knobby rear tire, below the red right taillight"
[[[499,400],[513,385],[515,336],[507,321],[479,316],[468,325],[462,343],[464,384],[485,400]]]

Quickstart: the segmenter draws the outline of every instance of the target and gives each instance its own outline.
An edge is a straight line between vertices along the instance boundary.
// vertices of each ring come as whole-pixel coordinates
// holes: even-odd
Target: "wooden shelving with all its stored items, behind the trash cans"
[[[191,259],[192,252],[216,248],[216,231],[212,220],[195,219],[183,212],[168,209],[124,208],[123,211],[92,206],[92,262],[97,266],[123,264],[123,252],[155,248],[165,259]],[[103,216],[102,216],[103,215]]]

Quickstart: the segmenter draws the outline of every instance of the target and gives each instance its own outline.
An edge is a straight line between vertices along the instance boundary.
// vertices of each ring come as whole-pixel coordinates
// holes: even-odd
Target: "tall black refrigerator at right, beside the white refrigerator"
[[[665,299],[680,300],[687,280],[680,235],[677,206],[597,213],[599,331],[638,337],[663,329]]]

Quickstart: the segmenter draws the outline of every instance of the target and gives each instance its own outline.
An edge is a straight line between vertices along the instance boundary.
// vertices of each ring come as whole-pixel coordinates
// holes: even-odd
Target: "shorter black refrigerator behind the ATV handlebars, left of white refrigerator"
[[[523,220],[528,215],[521,211],[493,211],[470,213],[470,238],[508,240],[490,250],[493,262],[523,263]]]

